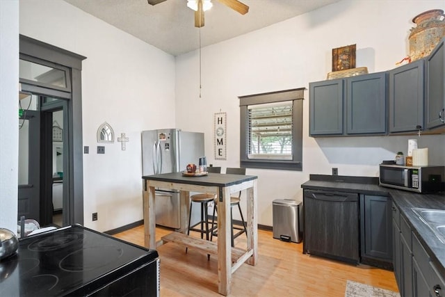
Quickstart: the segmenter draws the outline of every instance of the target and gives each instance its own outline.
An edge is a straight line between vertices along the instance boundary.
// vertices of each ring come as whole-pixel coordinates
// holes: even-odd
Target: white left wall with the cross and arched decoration
[[[83,154],[84,225],[106,231],[141,220],[140,131],[175,127],[175,57],[65,1],[21,0],[19,13],[20,34],[87,57],[82,63],[83,145],[90,146],[90,154]],[[113,127],[115,143],[100,144],[105,154],[96,154],[103,122]],[[117,142],[122,132],[129,137],[124,151]]]

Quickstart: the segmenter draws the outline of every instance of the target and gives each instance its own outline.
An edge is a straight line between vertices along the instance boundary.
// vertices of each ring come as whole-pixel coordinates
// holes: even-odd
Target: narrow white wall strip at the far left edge
[[[17,234],[19,3],[0,1],[0,227]]]

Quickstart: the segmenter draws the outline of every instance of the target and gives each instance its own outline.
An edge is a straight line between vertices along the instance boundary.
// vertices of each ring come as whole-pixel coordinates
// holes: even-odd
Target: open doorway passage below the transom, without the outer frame
[[[67,150],[67,102],[42,95],[19,102],[19,218],[37,220],[40,225],[62,227],[64,204],[69,203]]]

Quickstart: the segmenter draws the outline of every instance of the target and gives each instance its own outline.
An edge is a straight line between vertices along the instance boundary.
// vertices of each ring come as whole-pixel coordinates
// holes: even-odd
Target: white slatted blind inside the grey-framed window
[[[292,159],[292,101],[248,106],[248,159]]]

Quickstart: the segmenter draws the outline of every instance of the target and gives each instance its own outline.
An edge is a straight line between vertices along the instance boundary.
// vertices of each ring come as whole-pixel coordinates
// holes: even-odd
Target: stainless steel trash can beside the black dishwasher
[[[301,202],[276,199],[272,202],[273,238],[300,243]]]

